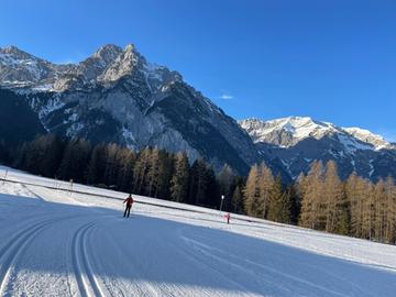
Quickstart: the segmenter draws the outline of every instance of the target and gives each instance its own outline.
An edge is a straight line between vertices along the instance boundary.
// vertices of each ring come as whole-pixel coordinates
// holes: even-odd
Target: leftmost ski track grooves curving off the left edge
[[[4,289],[9,282],[12,266],[15,260],[23,252],[25,246],[31,242],[31,240],[46,229],[47,226],[51,226],[54,222],[67,220],[74,217],[65,217],[61,219],[47,219],[42,220],[18,232],[0,251],[0,296],[4,294]]]

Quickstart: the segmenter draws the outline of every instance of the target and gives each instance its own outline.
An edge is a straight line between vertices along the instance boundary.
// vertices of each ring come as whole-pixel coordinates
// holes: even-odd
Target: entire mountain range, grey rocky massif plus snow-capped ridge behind
[[[0,141],[36,133],[114,142],[134,150],[158,146],[226,163],[246,174],[265,161],[286,180],[314,160],[336,160],[342,177],[396,177],[396,145],[359,128],[310,118],[237,122],[186,84],[150,63],[135,46],[105,45],[77,64],[53,64],[15,46],[0,48]]]

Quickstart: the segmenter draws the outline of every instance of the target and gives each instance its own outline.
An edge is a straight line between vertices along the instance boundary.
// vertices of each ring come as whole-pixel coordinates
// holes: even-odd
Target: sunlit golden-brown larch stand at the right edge
[[[392,177],[373,183],[352,173],[341,180],[334,161],[316,161],[307,175],[283,187],[262,164],[254,165],[243,190],[248,216],[369,239],[396,241],[396,186]]]

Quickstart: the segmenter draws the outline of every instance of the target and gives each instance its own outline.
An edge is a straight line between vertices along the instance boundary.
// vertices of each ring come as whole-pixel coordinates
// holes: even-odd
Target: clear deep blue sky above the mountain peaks
[[[235,119],[307,116],[396,141],[395,0],[0,0],[0,47],[77,63],[109,43]]]

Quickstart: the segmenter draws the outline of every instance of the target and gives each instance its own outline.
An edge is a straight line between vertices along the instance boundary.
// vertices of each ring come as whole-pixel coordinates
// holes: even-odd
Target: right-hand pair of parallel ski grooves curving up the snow
[[[73,268],[76,276],[79,293],[82,297],[106,296],[101,290],[87,256],[86,237],[87,232],[97,224],[91,221],[82,224],[74,234],[72,240]]]

